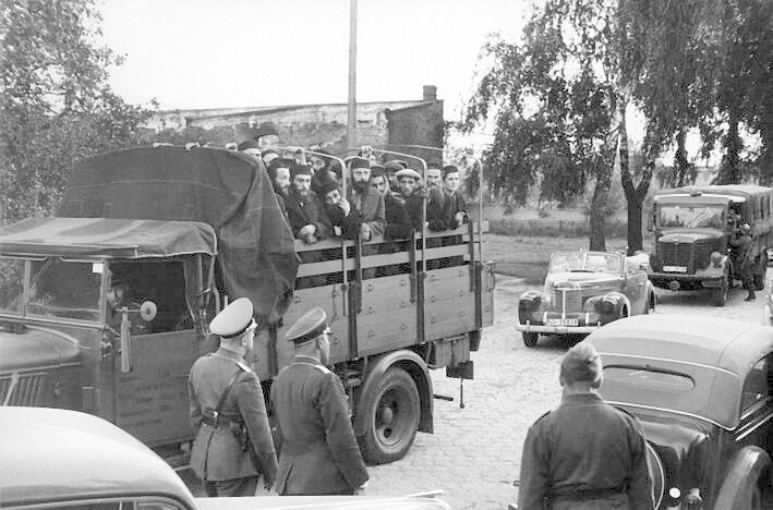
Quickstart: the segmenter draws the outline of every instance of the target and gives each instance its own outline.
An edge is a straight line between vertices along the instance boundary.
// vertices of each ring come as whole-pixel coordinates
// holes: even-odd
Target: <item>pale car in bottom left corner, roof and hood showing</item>
[[[0,508],[37,510],[440,510],[433,496],[195,498],[124,430],[77,411],[0,406]]]

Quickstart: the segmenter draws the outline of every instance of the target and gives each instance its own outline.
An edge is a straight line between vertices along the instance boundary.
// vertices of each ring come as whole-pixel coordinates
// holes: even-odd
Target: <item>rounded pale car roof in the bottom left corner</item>
[[[2,506],[154,495],[193,508],[174,471],[149,448],[97,416],[0,406]]]

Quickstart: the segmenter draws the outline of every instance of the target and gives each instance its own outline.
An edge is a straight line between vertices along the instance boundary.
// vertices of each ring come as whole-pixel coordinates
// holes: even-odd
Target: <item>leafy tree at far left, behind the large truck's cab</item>
[[[108,86],[93,0],[0,7],[0,220],[56,210],[75,160],[137,143],[148,110]]]

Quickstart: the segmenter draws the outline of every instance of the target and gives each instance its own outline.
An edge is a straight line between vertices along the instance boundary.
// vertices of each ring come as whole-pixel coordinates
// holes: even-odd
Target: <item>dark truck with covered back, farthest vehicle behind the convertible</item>
[[[705,289],[713,304],[724,306],[734,282],[742,279],[730,239],[744,223],[751,227],[746,256],[753,284],[762,290],[773,246],[773,189],[733,184],[656,192],[649,222],[655,241],[650,280],[672,291]]]

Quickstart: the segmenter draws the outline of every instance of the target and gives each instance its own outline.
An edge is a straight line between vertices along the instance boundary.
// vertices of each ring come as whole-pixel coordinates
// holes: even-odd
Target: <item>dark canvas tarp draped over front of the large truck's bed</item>
[[[264,324],[289,305],[298,271],[293,236],[253,156],[161,146],[87,158],[75,165],[58,216],[207,223],[229,298],[250,298]]]

